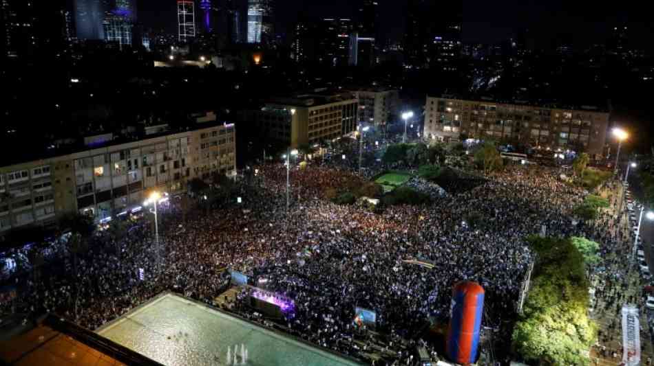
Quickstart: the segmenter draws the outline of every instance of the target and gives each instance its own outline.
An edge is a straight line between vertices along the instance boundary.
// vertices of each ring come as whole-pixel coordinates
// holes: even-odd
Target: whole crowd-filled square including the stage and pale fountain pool
[[[614,183],[600,192],[611,207],[587,220],[577,211],[589,199],[584,187],[538,165],[508,165],[483,178],[448,170],[447,186],[458,187],[452,193],[425,191],[424,201],[382,199],[371,207],[330,198],[359,192],[370,179],[313,161],[288,170],[287,209],[284,165],[254,169],[229,183],[224,203],[162,205],[158,240],[152,222],[140,220],[122,238],[98,231],[74,262],[53,247],[52,258],[68,269],[30,277],[13,305],[25,314],[61,314],[165,365],[416,365],[448,361],[452,288],[474,282],[484,292],[478,363],[505,364],[515,357],[514,327],[540,301],[523,299],[529,276],[542,275],[529,241],[535,235],[598,243],[604,265],[591,272],[598,295],[589,299],[585,287],[582,297],[601,324],[622,302],[640,301],[633,291],[617,301],[603,279],[622,278],[618,256],[629,247],[629,233],[613,219]],[[432,189],[405,171],[380,170],[372,181]],[[637,273],[629,278],[621,286],[639,288]],[[607,326],[587,345],[591,358],[602,347],[618,358],[615,321]]]

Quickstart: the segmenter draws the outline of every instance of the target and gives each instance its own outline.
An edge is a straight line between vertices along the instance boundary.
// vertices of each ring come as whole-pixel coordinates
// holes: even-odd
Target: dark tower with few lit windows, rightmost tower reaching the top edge
[[[434,19],[434,14],[439,14]],[[461,1],[409,0],[404,38],[405,62],[454,71],[461,56]]]

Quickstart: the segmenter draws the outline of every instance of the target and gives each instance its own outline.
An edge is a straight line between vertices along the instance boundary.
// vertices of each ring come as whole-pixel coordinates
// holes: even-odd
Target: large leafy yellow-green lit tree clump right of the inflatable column
[[[513,347],[526,361],[587,365],[596,339],[588,317],[589,282],[582,253],[569,239],[529,238],[536,266],[525,312],[514,328]]]

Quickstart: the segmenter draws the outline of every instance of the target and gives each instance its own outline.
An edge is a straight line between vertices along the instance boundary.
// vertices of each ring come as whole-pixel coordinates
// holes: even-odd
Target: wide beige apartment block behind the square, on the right
[[[425,104],[425,137],[443,141],[492,137],[598,158],[608,128],[609,113],[591,106],[571,109],[429,96]]]

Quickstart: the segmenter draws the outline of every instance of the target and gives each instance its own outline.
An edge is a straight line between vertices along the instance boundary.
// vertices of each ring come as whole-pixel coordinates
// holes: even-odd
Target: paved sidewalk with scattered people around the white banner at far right
[[[616,238],[615,248],[604,257],[606,271],[593,275],[591,287],[598,294],[592,301],[591,319],[598,323],[598,345],[591,347],[591,365],[620,365],[622,363],[622,305],[635,304],[640,310],[640,344],[642,348],[641,365],[646,365],[648,357],[654,358],[654,350],[647,321],[647,309],[642,301],[642,288],[646,281],[640,275],[640,268],[631,260],[631,224],[626,214],[626,204],[622,203],[622,214],[618,220],[618,198],[622,196],[622,185],[617,190],[602,190],[601,195],[609,198],[611,207],[606,213],[611,215],[606,229]],[[608,243],[600,243],[605,246]],[[613,355],[615,354],[615,357]]]

